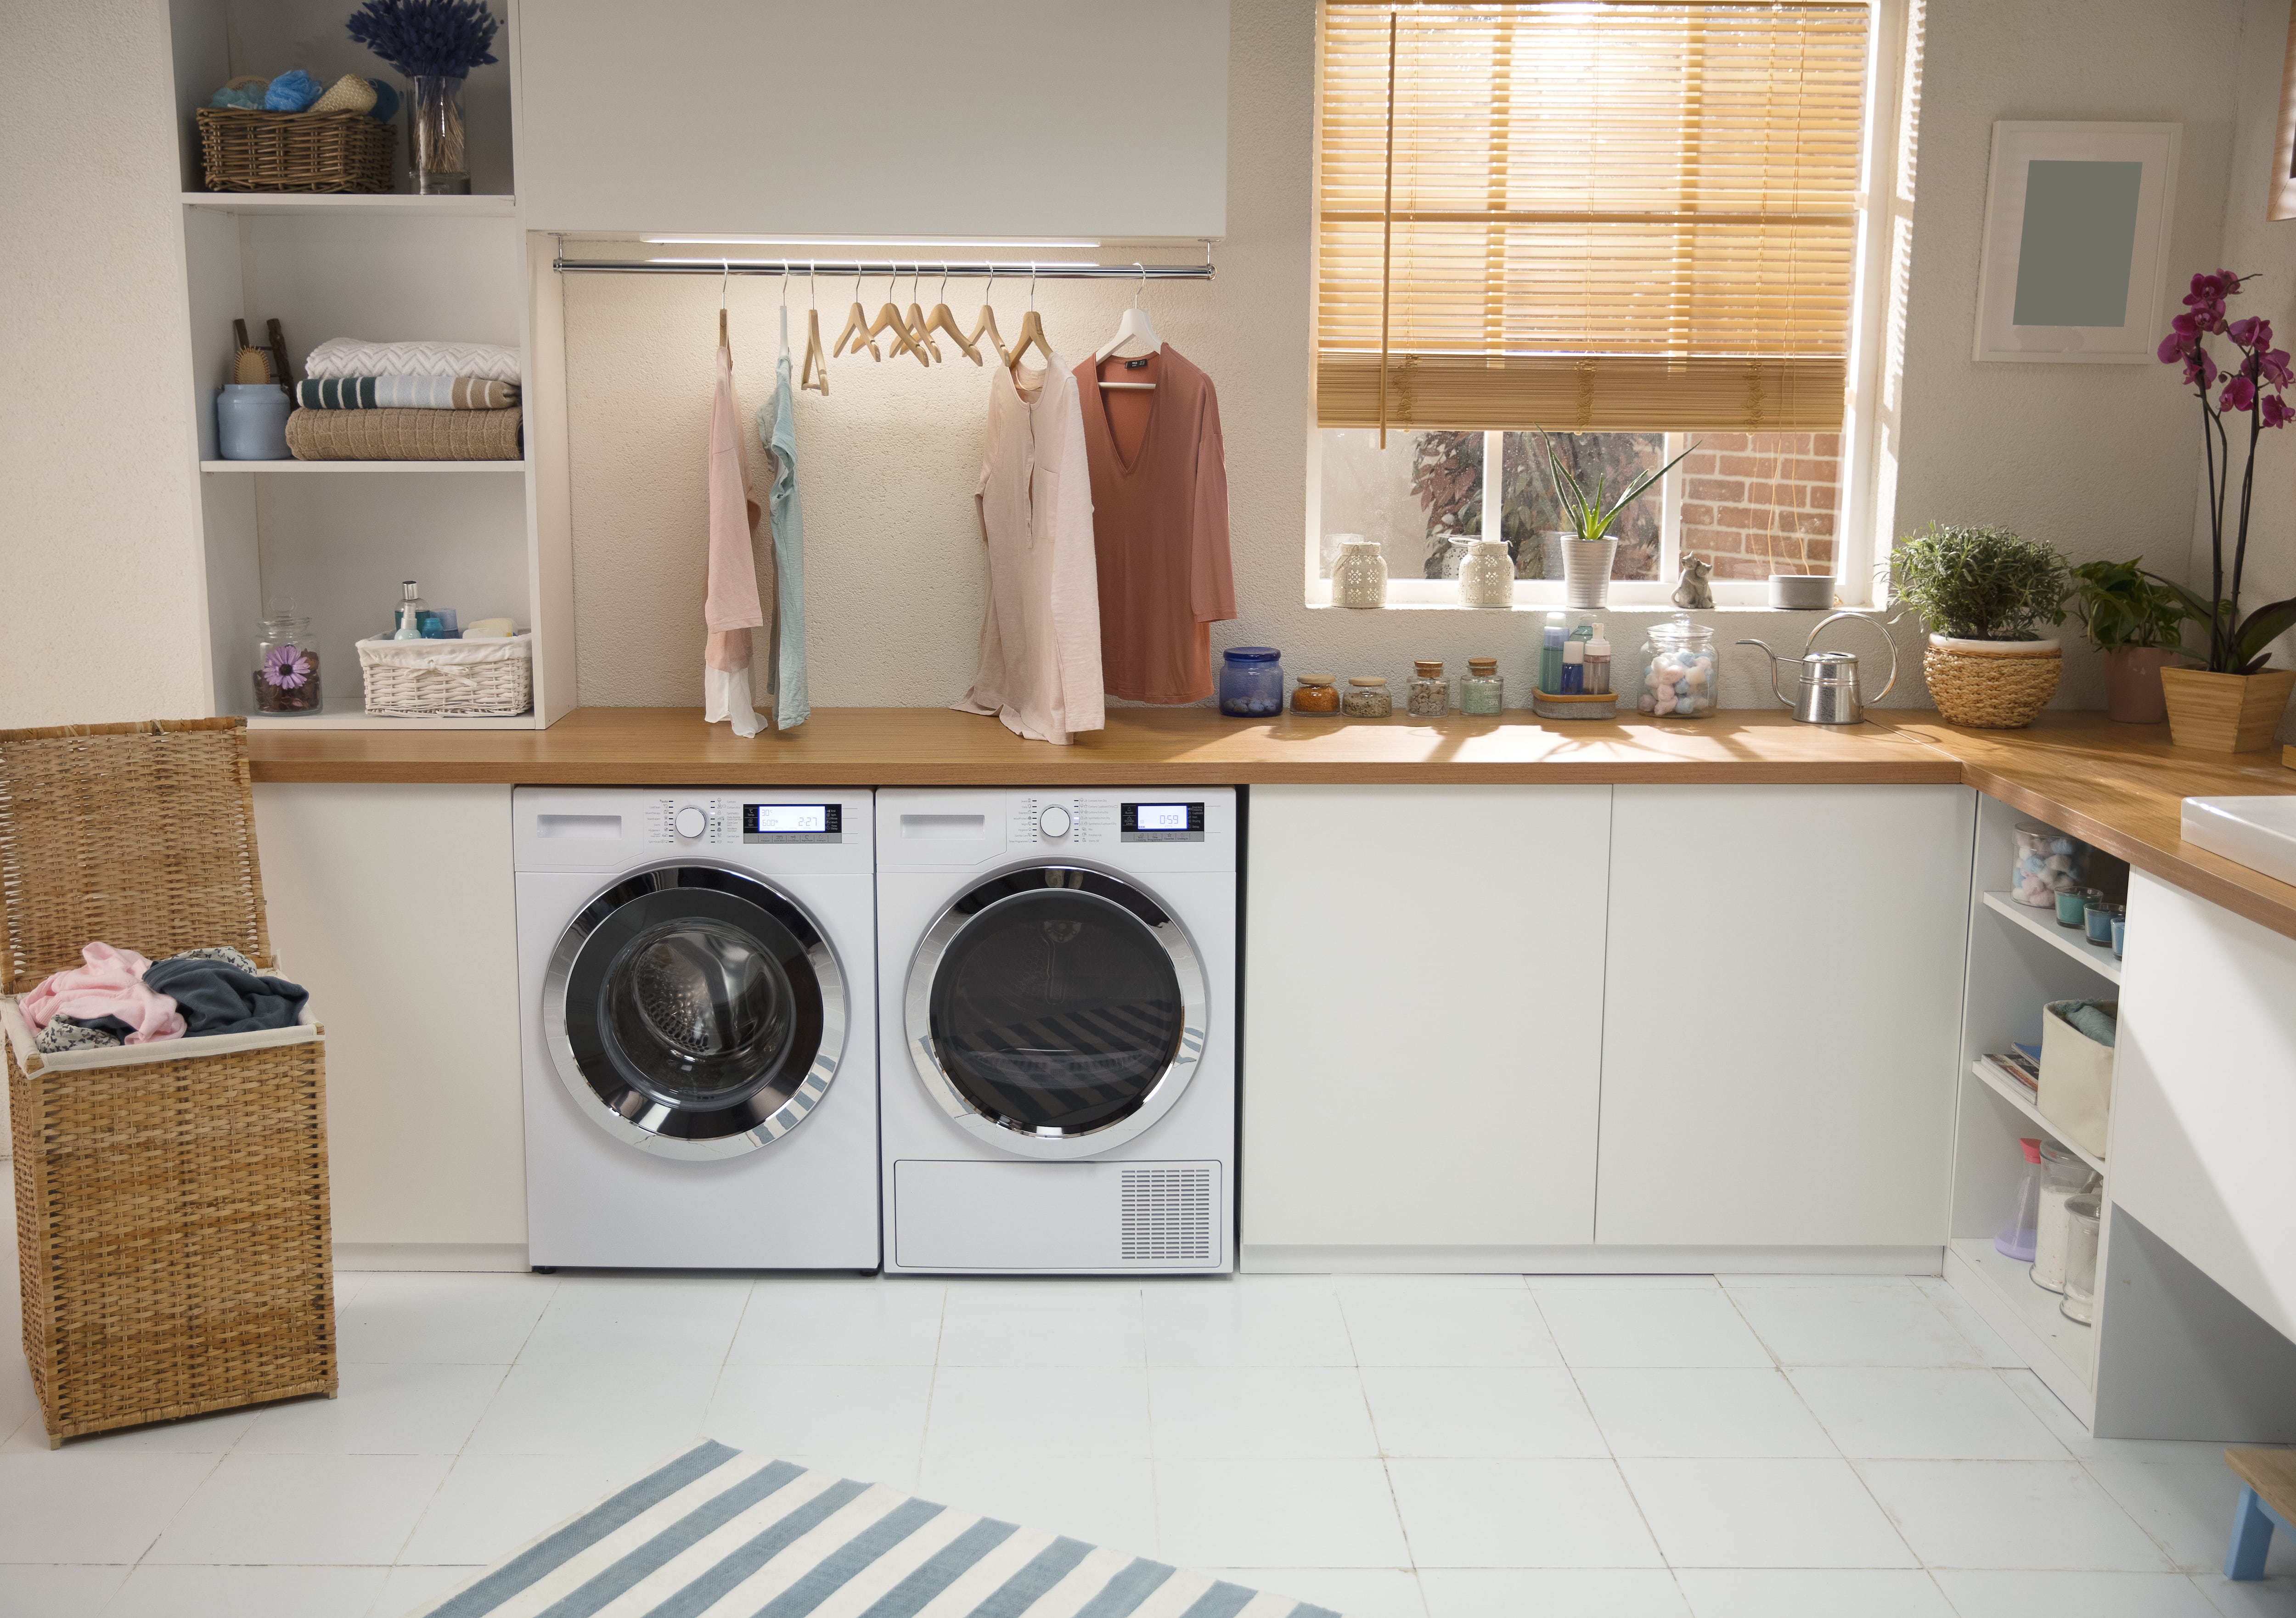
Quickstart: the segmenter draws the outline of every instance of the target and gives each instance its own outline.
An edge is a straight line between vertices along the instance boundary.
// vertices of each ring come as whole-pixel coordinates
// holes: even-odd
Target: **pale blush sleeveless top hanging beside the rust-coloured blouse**
[[[1093,569],[1093,493],[1084,413],[1068,360],[990,376],[980,482],[980,542],[990,599],[980,615],[980,672],[962,702],[1031,741],[1068,744],[1100,730],[1100,574]]]

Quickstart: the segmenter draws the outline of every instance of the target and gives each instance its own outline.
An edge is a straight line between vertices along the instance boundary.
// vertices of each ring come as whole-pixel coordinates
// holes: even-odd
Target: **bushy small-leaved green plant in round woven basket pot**
[[[1949,725],[2016,730],[2057,691],[2064,647],[2037,624],[2064,622],[2064,555],[2007,528],[1931,523],[1892,555],[1896,599],[1929,627],[1922,672]]]

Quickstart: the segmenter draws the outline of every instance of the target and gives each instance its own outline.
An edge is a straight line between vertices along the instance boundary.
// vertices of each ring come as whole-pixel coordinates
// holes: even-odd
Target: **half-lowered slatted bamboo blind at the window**
[[[1320,57],[1320,425],[1841,425],[1862,0],[1325,0]]]

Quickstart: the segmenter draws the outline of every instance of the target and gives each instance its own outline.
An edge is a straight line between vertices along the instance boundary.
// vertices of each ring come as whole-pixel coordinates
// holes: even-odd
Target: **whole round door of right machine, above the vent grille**
[[[1203,964],[1180,923],[1102,870],[1026,865],[925,929],[909,1058],[960,1127],[1022,1157],[1091,1157],[1180,1099],[1203,1056]]]

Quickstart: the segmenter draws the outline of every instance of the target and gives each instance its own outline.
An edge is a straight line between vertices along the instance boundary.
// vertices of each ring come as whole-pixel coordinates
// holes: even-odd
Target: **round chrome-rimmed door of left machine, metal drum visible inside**
[[[661,1157],[785,1136],[838,1074],[845,975],[790,895],[719,865],[659,865],[567,925],[542,1030],[574,1104]]]

